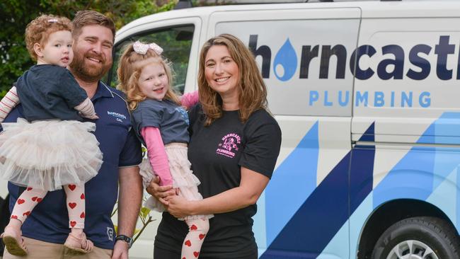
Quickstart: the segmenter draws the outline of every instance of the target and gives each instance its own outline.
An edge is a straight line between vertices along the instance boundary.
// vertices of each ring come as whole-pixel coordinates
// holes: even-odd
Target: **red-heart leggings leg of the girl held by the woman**
[[[209,231],[209,220],[206,218],[185,219],[185,223],[188,225],[188,234],[182,245],[180,259],[195,259],[200,255],[201,246]]]

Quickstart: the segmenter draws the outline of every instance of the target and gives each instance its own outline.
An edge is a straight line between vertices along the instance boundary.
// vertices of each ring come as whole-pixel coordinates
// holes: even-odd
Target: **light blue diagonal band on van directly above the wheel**
[[[460,132],[459,121],[460,113],[443,113],[425,130],[418,143],[460,144],[460,138],[455,137]],[[374,207],[401,197],[427,200],[459,164],[458,148],[413,147],[374,188]]]

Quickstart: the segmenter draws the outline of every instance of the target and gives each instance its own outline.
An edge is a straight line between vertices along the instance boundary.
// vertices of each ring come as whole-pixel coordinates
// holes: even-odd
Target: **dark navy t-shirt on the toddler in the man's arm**
[[[83,120],[74,107],[88,96],[64,67],[35,65],[25,71],[15,85],[28,121]]]

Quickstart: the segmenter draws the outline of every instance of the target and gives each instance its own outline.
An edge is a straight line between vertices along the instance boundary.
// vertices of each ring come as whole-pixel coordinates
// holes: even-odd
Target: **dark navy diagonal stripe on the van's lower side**
[[[367,141],[373,140],[374,124],[363,136]],[[350,198],[355,209],[371,191],[374,154],[373,146],[357,146],[348,152],[311,192],[260,258],[316,258],[347,221],[349,193],[353,195]],[[351,157],[354,162],[350,165]]]

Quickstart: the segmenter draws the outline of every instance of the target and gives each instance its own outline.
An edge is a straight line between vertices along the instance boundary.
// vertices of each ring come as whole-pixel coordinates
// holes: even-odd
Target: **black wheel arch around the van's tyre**
[[[434,205],[421,200],[393,200],[378,207],[367,220],[360,235],[357,259],[372,258],[374,246],[380,236],[384,234],[384,231],[396,222],[411,217],[435,217],[443,219],[449,224],[451,229],[454,229],[455,234],[458,236],[454,225],[447,215]]]

